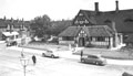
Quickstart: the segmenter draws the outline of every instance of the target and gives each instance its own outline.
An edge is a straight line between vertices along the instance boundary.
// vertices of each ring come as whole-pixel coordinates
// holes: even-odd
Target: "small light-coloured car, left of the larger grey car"
[[[52,57],[52,58],[59,58],[59,52],[58,51],[52,51],[52,50],[45,50],[42,53],[43,57]]]

